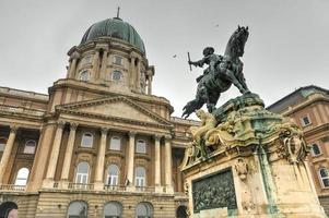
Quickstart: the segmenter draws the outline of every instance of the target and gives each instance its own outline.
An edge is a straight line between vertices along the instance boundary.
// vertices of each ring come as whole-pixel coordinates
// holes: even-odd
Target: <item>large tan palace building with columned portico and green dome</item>
[[[93,24],[48,95],[0,87],[0,217],[186,217],[188,130],[119,17]]]

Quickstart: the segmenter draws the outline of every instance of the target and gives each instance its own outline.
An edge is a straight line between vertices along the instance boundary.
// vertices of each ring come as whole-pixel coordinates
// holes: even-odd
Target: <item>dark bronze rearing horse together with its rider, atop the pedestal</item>
[[[244,55],[248,35],[248,26],[238,26],[231,36],[223,57],[215,55],[212,47],[207,47],[203,50],[203,59],[196,62],[189,61],[189,64],[202,66],[205,63],[209,64],[209,68],[204,70],[203,75],[197,78],[198,88],[196,99],[189,101],[184,107],[181,117],[185,119],[188,118],[204,104],[207,104],[208,111],[212,112],[215,109],[221,93],[227,90],[232,84],[242,94],[250,93],[243,74],[244,64],[239,60],[239,57]]]

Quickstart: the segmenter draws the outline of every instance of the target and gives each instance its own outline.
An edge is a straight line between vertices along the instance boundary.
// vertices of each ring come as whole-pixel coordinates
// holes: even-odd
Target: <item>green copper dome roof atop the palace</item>
[[[93,24],[86,29],[81,44],[92,41],[98,37],[114,37],[136,46],[142,53],[145,53],[144,43],[137,31],[119,17],[107,19]]]

